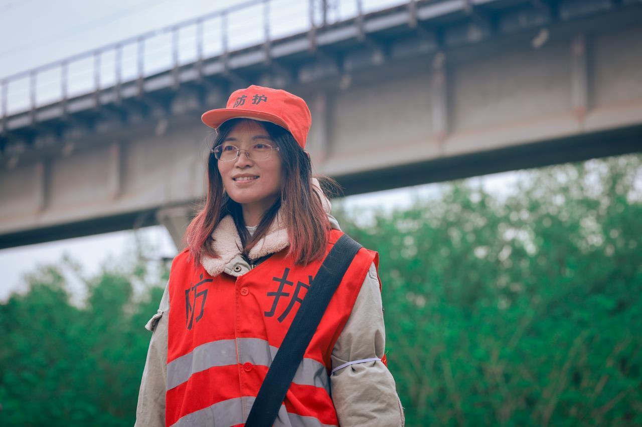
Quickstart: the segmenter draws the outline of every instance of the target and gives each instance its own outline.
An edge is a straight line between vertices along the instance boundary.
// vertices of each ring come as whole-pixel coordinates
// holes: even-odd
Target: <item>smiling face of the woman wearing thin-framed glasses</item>
[[[241,121],[227,134],[223,146],[234,145],[249,150],[254,144],[277,147],[270,134],[256,121]],[[218,160],[218,171],[228,196],[243,206],[243,210],[265,212],[281,194],[283,169],[279,151],[272,150],[266,159],[248,158],[245,151],[236,160]],[[241,177],[249,177],[239,179]]]

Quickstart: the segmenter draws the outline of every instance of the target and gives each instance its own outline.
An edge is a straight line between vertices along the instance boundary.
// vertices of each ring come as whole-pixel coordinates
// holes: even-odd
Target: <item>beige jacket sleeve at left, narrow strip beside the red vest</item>
[[[167,380],[167,324],[169,314],[168,285],[159,310],[145,325],[152,331],[150,347],[141,380],[136,406],[135,427],[165,427],[165,389]]]

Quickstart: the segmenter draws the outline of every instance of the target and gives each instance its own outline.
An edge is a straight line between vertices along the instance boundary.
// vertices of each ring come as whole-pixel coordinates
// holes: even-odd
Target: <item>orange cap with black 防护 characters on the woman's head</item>
[[[218,129],[229,119],[254,119],[272,122],[290,131],[301,148],[312,124],[306,101],[281,89],[251,85],[232,92],[226,108],[203,113],[201,120],[210,128]]]

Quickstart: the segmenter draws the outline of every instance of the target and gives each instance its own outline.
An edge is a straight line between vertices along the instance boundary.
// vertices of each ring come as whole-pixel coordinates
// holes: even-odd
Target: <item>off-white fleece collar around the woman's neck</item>
[[[321,197],[325,213],[330,215],[332,205],[321,191],[317,178],[312,178],[312,184],[313,189]],[[338,228],[338,224],[336,228]],[[211,276],[215,277],[223,272],[226,264],[241,253],[241,237],[238,235],[234,219],[232,219],[231,215],[226,215],[221,219],[212,233],[212,239],[212,247],[220,258],[212,258],[211,256],[204,255],[201,258],[201,264]],[[268,228],[268,232],[263,239],[259,240],[259,242],[250,249],[248,257],[250,260],[256,260],[261,258],[261,256],[279,252],[289,245],[290,238],[288,236],[288,229],[282,219],[281,210],[279,210],[270,228]]]

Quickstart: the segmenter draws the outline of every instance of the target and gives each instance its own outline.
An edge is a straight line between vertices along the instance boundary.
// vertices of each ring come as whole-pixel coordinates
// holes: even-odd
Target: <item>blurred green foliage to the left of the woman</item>
[[[77,307],[60,267],[41,267],[26,294],[0,306],[0,425],[134,424],[150,339],[143,325],[163,290],[134,298],[140,268],[87,280]]]

